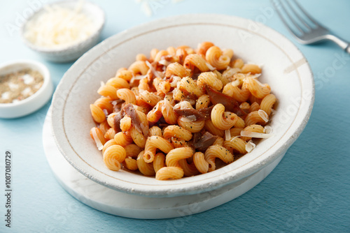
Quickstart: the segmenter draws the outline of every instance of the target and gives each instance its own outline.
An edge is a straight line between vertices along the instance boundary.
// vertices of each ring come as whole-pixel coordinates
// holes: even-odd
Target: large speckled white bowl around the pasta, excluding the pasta
[[[244,61],[263,64],[259,79],[268,83],[279,99],[270,123],[274,137],[261,140],[251,153],[230,165],[183,179],[158,181],[125,170],[109,170],[89,135],[94,126],[89,105],[99,97],[100,82],[113,77],[118,68],[130,66],[137,54],[149,54],[154,47],[196,47],[203,41],[232,48]],[[297,47],[280,33],[240,17],[181,15],[118,33],[76,61],[55,92],[52,127],[66,160],[93,181],[125,193],[172,197],[220,188],[280,159],[302,133],[313,103],[314,80],[309,65]]]

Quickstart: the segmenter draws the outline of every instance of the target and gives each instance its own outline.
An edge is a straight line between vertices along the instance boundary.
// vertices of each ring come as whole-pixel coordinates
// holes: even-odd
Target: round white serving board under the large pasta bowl
[[[207,211],[246,193],[265,179],[283,158],[282,155],[255,174],[207,193],[178,197],[130,195],[102,186],[80,174],[59,152],[51,126],[49,110],[43,126],[43,147],[51,170],[61,186],[87,206],[127,218],[175,218]]]

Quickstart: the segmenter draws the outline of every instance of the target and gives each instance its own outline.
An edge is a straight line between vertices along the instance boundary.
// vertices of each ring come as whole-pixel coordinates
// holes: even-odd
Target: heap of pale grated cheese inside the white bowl
[[[25,38],[48,48],[68,47],[87,39],[97,31],[97,25],[80,12],[82,5],[83,1],[78,1],[74,9],[45,6],[43,13],[27,23]]]

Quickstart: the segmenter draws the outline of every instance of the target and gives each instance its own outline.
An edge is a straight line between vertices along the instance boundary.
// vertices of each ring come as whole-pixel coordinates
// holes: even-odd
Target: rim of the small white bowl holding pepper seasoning
[[[44,80],[43,85],[40,87],[40,89],[38,89],[38,91],[36,91],[36,93],[32,94],[28,98],[25,98],[24,100],[20,100],[20,101],[15,102],[15,103],[0,103],[0,109],[27,105],[29,102],[31,102],[31,101],[35,100],[36,98],[38,98],[39,96],[41,96],[41,94],[45,91],[45,89],[48,89],[48,87],[50,87],[50,85],[52,84],[52,80],[50,77],[50,71],[48,70],[48,67],[46,67],[41,62],[33,61],[33,60],[29,60],[29,59],[13,60],[13,61],[7,61],[6,63],[1,63],[0,64],[0,74],[1,74],[1,70],[3,68],[6,68],[8,66],[19,66],[20,64],[29,64],[31,66],[35,66],[35,67],[38,67],[39,69],[41,69],[41,70],[36,70],[36,71],[38,71],[39,73],[41,73],[41,75],[43,75],[43,80]]]

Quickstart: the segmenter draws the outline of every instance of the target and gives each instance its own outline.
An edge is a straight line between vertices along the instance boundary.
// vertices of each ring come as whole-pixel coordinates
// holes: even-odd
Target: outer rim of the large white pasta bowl
[[[102,54],[104,54],[104,52],[99,52],[99,50],[101,50],[101,47],[108,44],[109,41],[113,41],[113,40],[120,40],[120,38],[123,38],[123,36],[127,37],[130,36],[128,33],[130,33],[131,35],[133,34],[142,34],[145,33],[145,28],[146,27],[151,27],[151,29],[148,29],[148,31],[154,31],[155,29],[162,29],[164,28],[164,24],[170,24],[171,26],[174,25],[183,25],[185,24],[185,22],[183,22],[185,19],[186,20],[193,20],[196,19],[198,22],[202,22],[203,24],[209,24],[209,22],[211,22],[210,19],[214,18],[214,17],[218,17],[219,19],[221,19],[221,22],[223,23],[222,25],[227,26],[228,22],[232,21],[232,20],[238,20],[239,22],[254,22],[253,20],[249,20],[249,19],[245,19],[243,17],[236,17],[236,16],[231,16],[231,15],[220,15],[220,14],[188,14],[188,15],[176,15],[176,16],[172,16],[172,17],[165,17],[165,18],[161,18],[159,20],[154,20],[152,22],[147,22],[145,24],[141,24],[137,27],[133,27],[132,29],[127,29],[121,33],[118,33],[114,36],[111,36],[110,38],[107,38],[106,40],[104,40],[102,43],[100,43],[99,45],[96,45],[95,47],[93,47],[89,52],[85,53],[82,57],[80,57],[80,59],[78,59],[78,61],[76,61],[76,63],[74,63],[71,68],[69,68],[69,70],[67,70],[67,72],[64,74],[64,77],[62,78],[62,80],[68,79],[69,75],[71,75],[71,70],[76,70],[78,69],[78,66],[81,66],[80,61],[92,61],[93,59],[96,59],[96,57],[98,57],[99,55],[101,56]],[[223,20],[228,20],[228,22],[224,22]],[[182,21],[181,21],[182,20]],[[202,21],[201,21],[202,20]],[[182,24],[179,24],[179,21],[182,22]],[[216,20],[218,21],[218,20]],[[288,46],[291,47],[291,49],[293,49],[293,52],[297,55],[299,55],[299,57],[302,57],[302,59],[305,59],[304,55],[302,54],[302,52],[290,41],[288,40],[288,38],[286,38],[285,36],[281,35],[281,33],[275,31],[274,29],[265,26],[264,24],[260,24],[258,22],[255,22],[256,24],[258,24],[261,28],[267,30],[269,33],[272,33],[274,36],[279,36],[279,38],[281,38],[283,43],[288,43]],[[188,24],[188,22],[186,23]],[[211,23],[211,24],[215,24],[215,23]],[[120,42],[120,41],[119,41]],[[275,41],[274,41],[275,42]],[[281,42],[279,42],[279,45],[281,45]],[[283,51],[284,52],[284,51]],[[96,54],[94,54],[96,53]],[[92,57],[90,57],[90,60],[88,58],[88,56],[92,55]],[[94,172],[96,174],[90,174],[89,172],[86,172],[84,170],[84,168],[80,167],[79,164],[75,164],[74,161],[71,160],[71,158],[66,154],[66,151],[64,151],[64,149],[62,148],[61,144],[59,144],[59,135],[57,135],[57,130],[61,130],[58,129],[57,127],[58,124],[52,124],[53,130],[54,130],[54,137],[55,137],[55,142],[57,144],[57,147],[59,148],[59,150],[62,152],[62,155],[64,156],[64,158],[66,158],[66,160],[69,161],[69,163],[71,163],[71,165],[73,165],[73,167],[75,167],[80,173],[84,174],[85,176],[87,176],[87,178],[92,179],[93,181],[100,183],[104,186],[107,186],[109,188],[113,188],[115,190],[119,190],[125,193],[131,193],[131,194],[137,194],[137,195],[148,195],[148,196],[154,196],[154,197],[172,197],[172,196],[176,196],[176,195],[191,195],[191,194],[195,194],[195,193],[203,193],[209,190],[213,190],[214,188],[220,188],[221,186],[225,186],[228,183],[232,183],[232,182],[236,182],[239,181],[240,179],[243,179],[244,177],[253,174],[255,172],[257,172],[258,170],[261,170],[263,167],[267,166],[269,163],[272,163],[272,161],[276,160],[276,158],[279,158],[279,156],[281,156],[281,154],[283,154],[283,152],[285,152],[291,144],[293,144],[293,142],[295,142],[295,140],[297,139],[297,137],[302,133],[302,130],[304,129],[304,127],[307,124],[307,121],[309,120],[310,114],[311,114],[311,110],[312,107],[314,105],[314,79],[313,79],[313,74],[311,72],[311,68],[309,66],[309,63],[306,61],[306,74],[309,77],[309,79],[305,80],[300,80],[302,82],[307,82],[308,87],[311,89],[311,99],[307,100],[307,110],[305,110],[302,114],[300,114],[300,111],[297,112],[297,114],[295,114],[295,119],[297,119],[297,117],[299,117],[298,121],[300,121],[299,125],[295,125],[295,121],[293,121],[293,123],[291,123],[290,128],[293,127],[293,130],[290,130],[290,128],[286,131],[286,133],[280,138],[280,140],[276,141],[276,144],[279,143],[279,141],[281,141],[281,139],[283,139],[283,142],[280,142],[279,146],[276,146],[276,144],[274,144],[271,148],[269,148],[265,153],[268,153],[268,156],[265,156],[263,159],[260,156],[260,160],[259,159],[254,159],[254,163],[253,165],[251,165],[250,163],[252,163],[253,161],[247,163],[246,165],[243,165],[242,167],[246,167],[244,170],[239,170],[241,167],[239,167],[237,170],[239,170],[239,174],[234,174],[235,172],[225,172],[225,174],[229,174],[225,177],[221,177],[223,179],[217,179],[214,182],[210,182],[210,183],[205,183],[208,186],[203,186],[203,183],[201,183],[203,180],[198,181],[197,183],[193,183],[193,186],[186,186],[186,187],[181,187],[181,188],[176,188],[176,190],[165,190],[164,186],[156,186],[156,188],[153,186],[153,188],[140,188],[138,187],[134,187],[134,186],[130,186],[130,182],[126,182],[123,180],[120,180],[120,183],[109,183],[109,181],[111,181],[111,179],[107,176],[109,176],[108,174],[104,174],[103,172],[96,170],[94,168],[95,171]],[[293,63],[296,61],[293,61]],[[83,66],[87,66],[86,64]],[[62,86],[62,87],[61,87]],[[59,89],[63,88],[64,84],[63,82],[60,82],[58,87],[57,87],[57,91],[55,92],[54,98],[52,100],[52,103],[54,103],[56,98],[62,98],[62,96],[59,96]],[[62,114],[62,113],[61,113]],[[52,122],[59,122],[62,123],[62,120],[60,120],[57,116],[59,114],[52,114],[52,117],[54,118],[52,120]],[[300,119],[300,117],[302,117],[302,119]],[[55,120],[55,118],[57,118]],[[61,126],[62,127],[62,126]],[[288,137],[286,137],[286,135]],[[85,162],[86,163],[86,162]],[[88,167],[90,165],[87,164]],[[226,166],[227,167],[227,166]],[[90,169],[90,168],[89,168]],[[214,171],[216,172],[216,171]],[[102,174],[99,174],[102,173]],[[238,173],[238,172],[237,172]],[[222,175],[222,174],[221,174]],[[97,176],[103,176],[104,178],[109,179],[109,181],[102,181],[99,180],[99,178]],[[218,174],[215,177],[220,176],[220,174]],[[111,176],[110,176],[111,177]],[[115,178],[115,177],[112,177]],[[209,177],[207,180],[213,181],[212,180],[213,177]],[[123,183],[124,182],[124,183]],[[116,184],[117,183],[117,184]],[[140,186],[142,186],[143,184],[140,184]],[[144,185],[146,186],[146,185]],[[165,186],[172,186],[169,183],[165,183]],[[163,187],[163,188],[162,188]],[[179,185],[178,185],[179,187]]]

